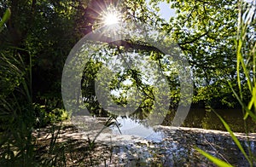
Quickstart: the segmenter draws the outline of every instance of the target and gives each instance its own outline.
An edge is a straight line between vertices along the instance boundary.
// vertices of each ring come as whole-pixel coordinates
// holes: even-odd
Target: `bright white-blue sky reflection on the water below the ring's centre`
[[[143,137],[149,141],[162,141],[163,134],[161,132],[156,132],[152,127],[146,127],[138,120],[133,120],[131,118],[117,118],[119,129],[117,126],[113,126],[111,129],[113,130],[113,134],[120,135],[137,135],[139,137]]]

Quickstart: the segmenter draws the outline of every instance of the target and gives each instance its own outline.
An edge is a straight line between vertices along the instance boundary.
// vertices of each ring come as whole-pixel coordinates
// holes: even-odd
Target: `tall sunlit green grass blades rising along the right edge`
[[[256,123],[256,42],[253,38],[252,30],[255,30],[255,4],[240,3],[238,31],[236,36],[236,58],[237,58],[237,83],[239,94],[236,98],[246,111],[244,119],[248,116],[253,118]],[[245,101],[241,85],[241,76],[245,78],[249,89],[249,101]],[[245,105],[247,102],[247,106]]]

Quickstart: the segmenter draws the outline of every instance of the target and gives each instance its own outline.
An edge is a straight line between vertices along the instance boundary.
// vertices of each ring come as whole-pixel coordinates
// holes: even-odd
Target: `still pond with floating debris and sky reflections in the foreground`
[[[218,119],[215,119],[212,114],[204,110],[201,110],[201,114],[199,114],[197,111],[194,109],[190,110],[188,118],[183,125],[191,124],[194,127],[202,127],[207,123],[213,124],[212,126],[207,126],[208,129],[211,127],[221,127],[221,123],[218,123]],[[218,112],[219,114],[222,113],[222,111]],[[226,113],[230,114],[230,112]],[[238,114],[239,111],[235,113]],[[229,114],[225,115],[225,117],[230,116]],[[211,116],[210,118],[213,121],[206,119],[209,116]],[[222,116],[224,117],[224,115]],[[110,129],[107,128],[101,131],[98,123],[104,124],[107,120],[108,118],[81,116],[73,118],[73,124],[76,124],[81,128],[80,130],[84,131],[84,139],[88,137],[93,139],[97,136],[96,141],[98,143],[107,144],[112,147],[112,161],[105,162],[108,165],[112,165],[115,162],[118,166],[159,166],[160,164],[162,166],[181,166],[184,164],[213,166],[207,158],[204,158],[195,151],[195,147],[200,147],[202,150],[230,164],[235,164],[236,166],[248,165],[247,160],[236,147],[228,132],[198,128],[175,128],[162,125],[150,127],[144,123],[146,120],[138,120],[126,116],[116,118],[116,121],[119,123],[119,129],[117,126],[112,126]],[[227,122],[233,120],[237,121],[238,117],[227,120]],[[164,122],[167,123],[166,120]],[[239,123],[241,122],[238,122],[237,126]],[[99,131],[101,133],[97,135]],[[250,134],[247,137],[244,134],[236,133],[236,136],[241,141],[242,147],[251,147],[252,153],[256,153],[255,134]],[[249,142],[247,142],[247,139]]]

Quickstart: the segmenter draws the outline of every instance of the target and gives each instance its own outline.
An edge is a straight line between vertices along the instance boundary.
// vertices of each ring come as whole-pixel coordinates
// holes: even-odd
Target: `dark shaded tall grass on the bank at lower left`
[[[0,32],[9,20],[7,9],[0,21]],[[3,166],[67,166],[99,164],[94,153],[96,137],[88,138],[84,143],[68,139],[59,142],[62,124],[67,119],[62,109],[40,106],[32,101],[32,55],[28,65],[19,54],[19,48],[6,46],[0,52],[0,164]],[[3,90],[3,91],[2,91]],[[113,117],[108,119],[106,127],[113,125]],[[34,135],[35,127],[45,125],[49,128],[44,136]],[[41,129],[38,129],[38,134]],[[82,146],[82,147],[81,147]],[[106,149],[103,149],[106,150]],[[110,148],[108,150],[111,150]],[[111,155],[110,152],[108,152]],[[103,155],[103,154],[102,154]],[[100,159],[100,158],[99,158]]]

